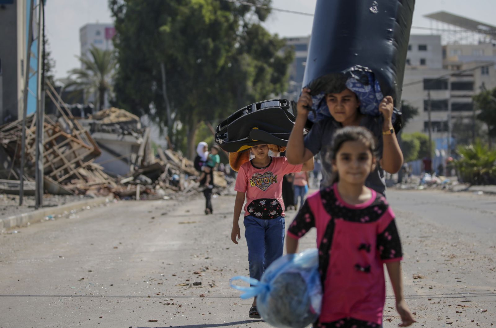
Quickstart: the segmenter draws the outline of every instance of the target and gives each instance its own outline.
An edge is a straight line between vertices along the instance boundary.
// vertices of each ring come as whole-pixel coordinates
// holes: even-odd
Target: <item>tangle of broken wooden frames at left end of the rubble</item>
[[[79,184],[98,183],[113,187],[113,179],[93,162],[101,154],[90,133],[72,116],[58,107],[58,115],[45,115],[43,125],[43,169],[45,189],[61,189],[64,194],[77,190]],[[27,181],[34,180],[35,134],[34,115],[26,118],[25,170]],[[0,146],[5,159],[0,175],[5,179],[19,179],[21,163],[22,120],[0,126]],[[65,185],[65,186],[62,186]]]

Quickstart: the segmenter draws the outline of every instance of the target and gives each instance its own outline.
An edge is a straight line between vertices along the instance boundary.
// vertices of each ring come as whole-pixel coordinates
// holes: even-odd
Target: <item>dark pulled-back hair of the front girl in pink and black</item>
[[[364,145],[371,151],[372,157],[375,157],[375,139],[368,129],[361,126],[347,126],[337,130],[333,137],[330,146],[330,152],[327,155],[327,161],[331,162],[336,160],[336,155],[341,149],[343,143],[347,141],[362,141]],[[338,172],[332,172],[330,184],[339,181]]]

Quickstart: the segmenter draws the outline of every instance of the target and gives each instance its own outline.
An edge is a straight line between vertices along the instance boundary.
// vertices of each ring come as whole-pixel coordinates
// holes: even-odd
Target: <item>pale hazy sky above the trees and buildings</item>
[[[313,13],[315,2],[316,0],[272,0],[272,6]],[[423,15],[439,10],[496,25],[495,0],[416,0],[413,26],[430,27],[429,20]],[[84,24],[95,22],[112,22],[107,0],[47,1],[47,36],[52,56],[56,61],[57,78],[66,77],[69,69],[79,66],[75,57],[80,52],[79,28]],[[273,12],[265,22],[265,27],[271,33],[283,37],[310,35],[311,26],[312,17],[283,12]],[[412,30],[412,34],[426,33],[429,32]]]

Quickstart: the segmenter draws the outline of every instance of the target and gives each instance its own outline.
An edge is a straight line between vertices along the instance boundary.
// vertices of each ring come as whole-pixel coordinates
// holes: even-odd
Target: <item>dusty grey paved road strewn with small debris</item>
[[[490,327],[496,197],[390,190],[388,198],[415,325]],[[213,216],[201,199],[172,204],[120,202],[0,235],[0,327],[267,327],[248,320],[250,302],[228,286],[248,275],[245,239],[229,240],[234,197],[215,198]],[[313,247],[314,233],[302,245]],[[387,295],[384,327],[396,327]]]

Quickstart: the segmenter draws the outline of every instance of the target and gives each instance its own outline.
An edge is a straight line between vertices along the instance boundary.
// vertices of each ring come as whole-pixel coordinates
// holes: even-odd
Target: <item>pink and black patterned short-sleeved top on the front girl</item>
[[[343,320],[380,327],[385,302],[383,264],[401,261],[394,213],[382,194],[359,205],[347,204],[337,184],[312,194],[291,223],[288,236],[299,239],[317,229],[323,286],[318,323]],[[376,326],[378,325],[378,326]]]

